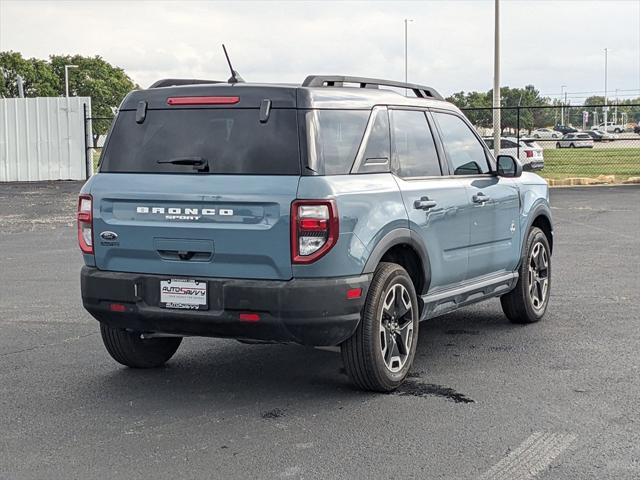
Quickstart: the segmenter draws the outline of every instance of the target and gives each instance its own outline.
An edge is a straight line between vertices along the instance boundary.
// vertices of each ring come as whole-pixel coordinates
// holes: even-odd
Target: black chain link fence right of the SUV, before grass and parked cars
[[[494,109],[462,110],[493,149]],[[501,107],[500,116],[501,153],[551,184],[640,183],[638,104]]]

